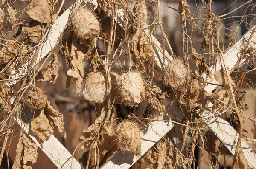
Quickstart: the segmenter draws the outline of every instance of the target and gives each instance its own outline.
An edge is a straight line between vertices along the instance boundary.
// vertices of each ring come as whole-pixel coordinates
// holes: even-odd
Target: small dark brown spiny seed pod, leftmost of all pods
[[[28,91],[26,101],[31,110],[41,110],[47,104],[44,91],[39,87],[33,87]]]

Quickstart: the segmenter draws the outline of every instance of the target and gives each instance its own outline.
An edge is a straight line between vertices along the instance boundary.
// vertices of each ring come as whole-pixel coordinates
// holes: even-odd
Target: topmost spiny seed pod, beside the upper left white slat
[[[71,17],[71,23],[78,38],[87,40],[99,35],[99,21],[88,9],[79,8],[76,10]]]

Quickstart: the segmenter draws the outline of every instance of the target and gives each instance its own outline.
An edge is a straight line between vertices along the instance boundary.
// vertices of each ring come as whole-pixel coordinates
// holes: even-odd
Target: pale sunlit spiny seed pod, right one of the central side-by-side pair
[[[128,72],[119,76],[118,91],[125,106],[137,106],[145,99],[145,85],[137,72]]]

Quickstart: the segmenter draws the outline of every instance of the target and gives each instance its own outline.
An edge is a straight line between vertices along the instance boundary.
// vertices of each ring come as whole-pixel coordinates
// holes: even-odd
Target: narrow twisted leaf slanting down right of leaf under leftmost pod
[[[64,133],[64,138],[67,137],[66,132],[64,130],[64,120],[63,114],[59,113],[58,110],[55,110],[51,105],[50,102],[47,100],[47,104],[45,106],[45,111],[49,115],[49,122],[51,127],[53,128],[53,124],[58,128],[58,131]]]

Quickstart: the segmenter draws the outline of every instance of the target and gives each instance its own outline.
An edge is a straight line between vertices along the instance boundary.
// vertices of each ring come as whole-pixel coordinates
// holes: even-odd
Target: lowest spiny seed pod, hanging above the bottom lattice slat
[[[140,129],[134,121],[123,121],[116,127],[118,148],[123,153],[141,154]]]

